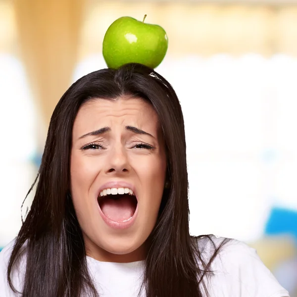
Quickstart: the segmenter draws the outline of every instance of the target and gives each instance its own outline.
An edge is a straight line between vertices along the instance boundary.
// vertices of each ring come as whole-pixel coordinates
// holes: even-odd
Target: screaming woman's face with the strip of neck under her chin
[[[72,136],[71,196],[88,255],[144,259],[166,174],[156,112],[140,98],[93,99],[80,108]]]

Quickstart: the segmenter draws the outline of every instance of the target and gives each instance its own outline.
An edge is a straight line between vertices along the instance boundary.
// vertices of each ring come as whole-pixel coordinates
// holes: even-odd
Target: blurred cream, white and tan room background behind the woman
[[[297,297],[297,0],[0,0],[0,247],[34,195],[50,115],[106,68],[108,26],[162,26],[185,117],[193,235],[255,247]]]

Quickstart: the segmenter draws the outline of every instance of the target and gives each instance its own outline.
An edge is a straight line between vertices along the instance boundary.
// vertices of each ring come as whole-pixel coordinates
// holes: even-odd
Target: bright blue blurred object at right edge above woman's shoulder
[[[265,234],[290,234],[297,239],[297,211],[274,207],[266,223]]]

